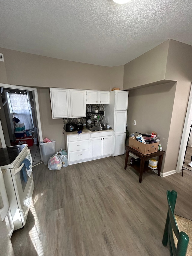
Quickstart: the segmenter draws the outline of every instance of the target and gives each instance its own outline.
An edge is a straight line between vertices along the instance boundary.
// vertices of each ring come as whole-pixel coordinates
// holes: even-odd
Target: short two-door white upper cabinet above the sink
[[[87,103],[90,104],[109,104],[108,91],[87,91]]]

